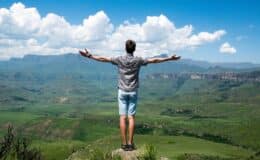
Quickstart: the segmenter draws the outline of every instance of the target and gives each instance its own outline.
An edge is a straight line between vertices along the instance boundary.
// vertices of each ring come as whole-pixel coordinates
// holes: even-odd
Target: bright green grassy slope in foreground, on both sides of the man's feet
[[[151,144],[157,148],[157,158],[168,157],[170,159],[177,159],[185,153],[220,156],[223,158],[247,158],[254,153],[251,150],[240,147],[187,136],[136,135],[135,143],[137,148],[147,144]],[[120,139],[118,136],[108,136],[89,144],[88,148],[100,148],[104,151],[111,151],[119,148],[119,144]],[[150,148],[149,150],[153,153],[155,152],[154,148]],[[77,157],[81,155],[87,156],[86,152],[86,150],[82,150],[77,153]]]

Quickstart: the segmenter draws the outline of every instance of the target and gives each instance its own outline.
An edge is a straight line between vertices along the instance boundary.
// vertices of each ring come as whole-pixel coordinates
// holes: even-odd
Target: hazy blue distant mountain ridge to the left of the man
[[[78,54],[64,55],[26,55],[23,58],[12,58],[0,61],[0,70],[7,71],[44,71],[44,72],[94,72],[95,69],[107,71],[111,65],[90,61]]]

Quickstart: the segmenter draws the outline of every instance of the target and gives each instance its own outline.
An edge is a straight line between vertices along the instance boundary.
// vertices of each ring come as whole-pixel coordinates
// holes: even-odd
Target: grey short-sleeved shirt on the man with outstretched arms
[[[139,71],[142,65],[147,65],[147,59],[132,54],[112,57],[112,64],[118,66],[118,88],[123,91],[134,91],[139,87]]]

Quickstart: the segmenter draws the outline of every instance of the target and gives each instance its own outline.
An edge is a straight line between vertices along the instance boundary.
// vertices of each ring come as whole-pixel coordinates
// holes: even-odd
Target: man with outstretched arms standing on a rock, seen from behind
[[[127,40],[125,43],[126,55],[118,57],[104,57],[90,54],[86,49],[79,53],[87,58],[100,62],[111,62],[118,67],[118,106],[120,115],[121,148],[125,151],[135,149],[133,143],[135,113],[137,106],[137,94],[139,86],[139,71],[141,66],[149,63],[160,63],[171,60],[178,60],[180,56],[173,55],[167,58],[148,58],[134,56],[136,43],[133,40]],[[128,119],[128,141],[126,136],[126,120]]]

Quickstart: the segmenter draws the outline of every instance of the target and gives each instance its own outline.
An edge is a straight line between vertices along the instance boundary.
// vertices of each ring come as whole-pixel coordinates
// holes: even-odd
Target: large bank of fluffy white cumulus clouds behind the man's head
[[[41,16],[36,8],[14,3],[10,8],[0,8],[0,59],[76,53],[85,47],[113,56],[124,52],[127,39],[137,41],[138,55],[153,56],[197,48],[219,40],[225,33],[221,29],[194,33],[192,25],[177,28],[165,15],[147,16],[143,23],[125,21],[114,26],[104,11],[72,25],[55,13]]]

